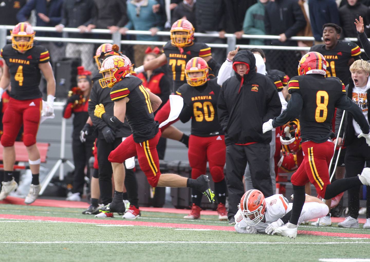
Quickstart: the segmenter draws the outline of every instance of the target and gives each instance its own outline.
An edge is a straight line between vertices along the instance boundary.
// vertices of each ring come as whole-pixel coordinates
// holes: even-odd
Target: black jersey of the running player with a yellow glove
[[[154,121],[149,93],[136,76],[124,77],[115,84],[110,93],[112,101],[129,98],[126,118],[136,143],[152,139],[158,133],[158,122]]]

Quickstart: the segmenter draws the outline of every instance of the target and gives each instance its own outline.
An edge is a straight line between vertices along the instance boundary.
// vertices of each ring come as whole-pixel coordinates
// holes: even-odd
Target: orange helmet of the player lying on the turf
[[[250,189],[240,199],[239,208],[242,211],[245,223],[249,226],[255,226],[265,216],[265,196],[257,189]]]

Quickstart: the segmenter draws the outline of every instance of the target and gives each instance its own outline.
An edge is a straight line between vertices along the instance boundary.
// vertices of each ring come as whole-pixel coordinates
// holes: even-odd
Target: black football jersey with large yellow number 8
[[[299,115],[302,141],[324,142],[332,133],[335,107],[346,96],[344,84],[337,77],[324,78],[308,74],[295,76],[288,83],[288,92],[299,93],[303,99]]]

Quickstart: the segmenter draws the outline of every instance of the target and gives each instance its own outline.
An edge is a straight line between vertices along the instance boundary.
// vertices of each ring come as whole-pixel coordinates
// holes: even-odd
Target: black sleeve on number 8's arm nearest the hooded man
[[[272,121],[272,126],[282,126],[286,124],[289,120],[296,118],[302,111],[302,106],[302,96],[298,92],[293,92],[286,110],[284,110],[280,116],[274,118],[274,120]]]

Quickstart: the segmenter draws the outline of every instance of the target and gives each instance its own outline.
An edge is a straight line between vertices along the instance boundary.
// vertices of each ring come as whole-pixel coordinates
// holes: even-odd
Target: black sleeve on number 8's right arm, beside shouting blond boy
[[[358,107],[346,94],[343,94],[336,104],[337,108],[343,109],[351,113],[353,119],[359,124],[361,131],[364,134],[369,133],[369,123],[367,123],[366,117],[363,115],[362,110]]]

